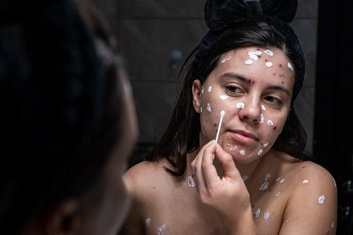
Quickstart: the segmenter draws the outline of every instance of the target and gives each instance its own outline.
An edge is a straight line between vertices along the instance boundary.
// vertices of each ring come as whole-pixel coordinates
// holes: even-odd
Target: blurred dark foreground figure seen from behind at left
[[[79,5],[1,4],[1,234],[114,234],[128,213],[130,85],[101,21]]]

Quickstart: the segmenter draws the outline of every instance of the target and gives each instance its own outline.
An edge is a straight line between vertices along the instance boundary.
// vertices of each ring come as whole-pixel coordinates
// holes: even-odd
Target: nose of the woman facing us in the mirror
[[[239,110],[240,119],[251,123],[259,123],[261,120],[261,104],[257,98],[248,98],[237,106],[241,106]]]

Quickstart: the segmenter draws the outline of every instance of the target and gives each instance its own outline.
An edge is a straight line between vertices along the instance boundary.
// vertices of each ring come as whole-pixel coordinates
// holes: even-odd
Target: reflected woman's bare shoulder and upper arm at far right
[[[281,232],[291,234],[302,227],[302,234],[334,234],[336,229],[337,189],[334,177],[313,162],[298,162],[293,175]]]

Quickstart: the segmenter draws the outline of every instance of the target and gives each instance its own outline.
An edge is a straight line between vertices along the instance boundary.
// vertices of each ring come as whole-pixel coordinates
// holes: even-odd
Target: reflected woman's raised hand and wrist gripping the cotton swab
[[[222,166],[222,178],[214,166],[214,155]],[[201,148],[191,166],[200,200],[214,207],[232,232],[255,234],[250,196],[232,156],[212,140]]]

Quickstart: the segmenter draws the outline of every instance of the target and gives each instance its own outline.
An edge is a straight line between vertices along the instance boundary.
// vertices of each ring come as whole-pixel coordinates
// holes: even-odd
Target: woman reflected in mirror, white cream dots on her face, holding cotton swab
[[[304,79],[296,7],[207,1],[210,31],[182,68],[171,121],[127,173],[135,202],[123,232],[335,233],[336,184],[309,161],[293,107]]]

